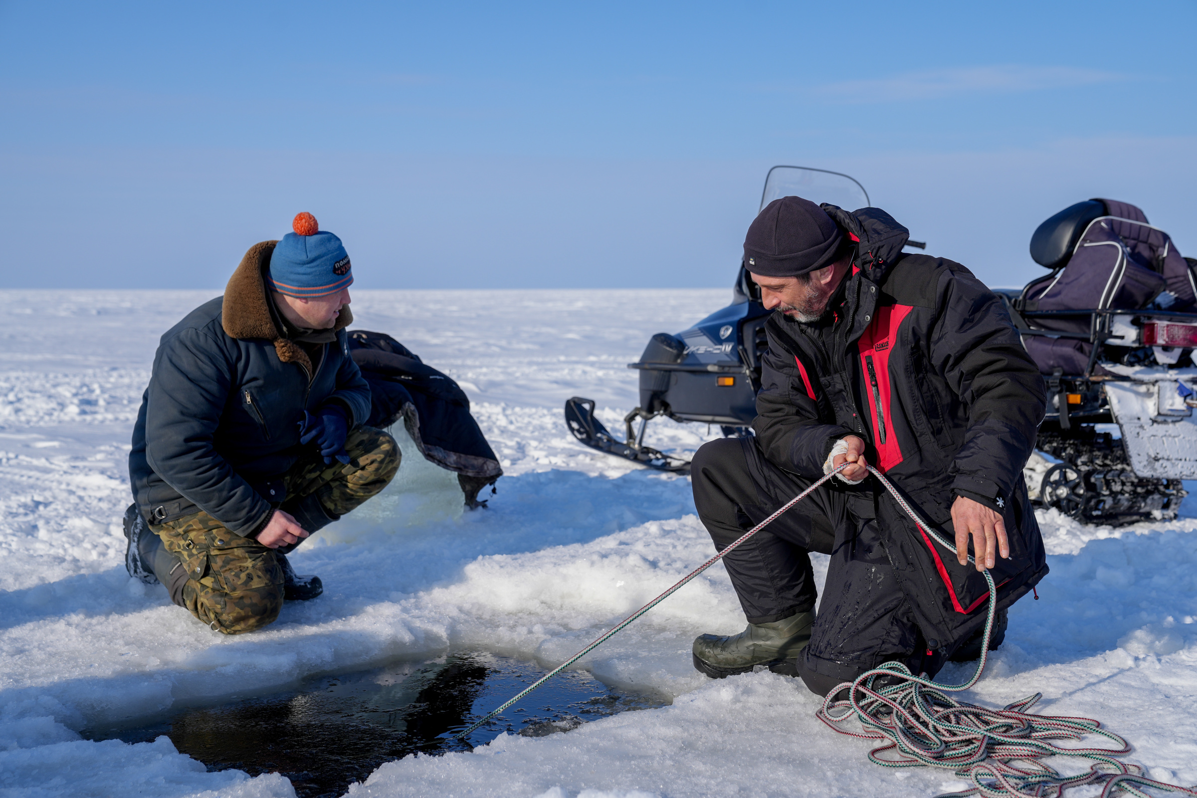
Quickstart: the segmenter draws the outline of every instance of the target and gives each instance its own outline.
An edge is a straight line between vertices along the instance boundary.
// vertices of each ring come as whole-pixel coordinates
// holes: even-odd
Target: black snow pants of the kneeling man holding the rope
[[[718,552],[813,481],[773,465],[754,438],[705,444],[691,480]],[[723,559],[748,622],[768,623],[815,608],[810,552],[831,555],[810,644],[798,658],[798,675],[819,695],[892,659],[931,676],[944,662],[928,647],[889,564],[875,485],[826,482]]]

